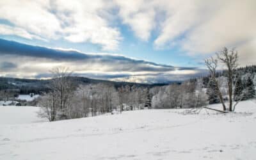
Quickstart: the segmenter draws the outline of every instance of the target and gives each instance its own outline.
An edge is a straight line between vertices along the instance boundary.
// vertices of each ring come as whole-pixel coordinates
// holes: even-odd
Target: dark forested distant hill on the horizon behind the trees
[[[159,84],[142,84],[142,83],[128,83],[128,82],[116,82],[116,81],[107,81],[100,79],[90,79],[87,77],[71,77],[77,85],[79,84],[113,84],[116,88],[120,86],[143,86],[143,87],[153,87],[153,86],[164,86],[167,83],[159,83]],[[28,93],[40,93],[47,92],[49,90],[49,83],[51,83],[51,79],[20,79],[13,77],[0,77],[0,90],[6,89],[17,89],[21,94]],[[173,83],[173,82],[170,82]],[[168,83],[168,84],[170,84]]]

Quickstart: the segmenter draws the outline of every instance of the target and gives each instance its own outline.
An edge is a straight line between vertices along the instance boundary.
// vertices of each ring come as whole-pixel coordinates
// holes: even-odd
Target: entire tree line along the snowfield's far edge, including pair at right
[[[165,86],[80,84],[67,68],[54,68],[49,92],[40,97],[40,116],[50,121],[96,116],[114,111],[153,108],[200,108],[221,103],[223,111],[234,111],[241,100],[255,97],[256,66],[238,67],[238,54],[224,48],[205,60],[209,76]],[[218,66],[225,69],[218,71]]]

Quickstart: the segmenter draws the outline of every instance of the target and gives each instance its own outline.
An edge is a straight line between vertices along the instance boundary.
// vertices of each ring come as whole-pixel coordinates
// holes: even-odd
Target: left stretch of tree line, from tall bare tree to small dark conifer
[[[148,88],[97,83],[77,86],[67,68],[54,68],[50,91],[42,95],[39,115],[50,121],[96,116],[124,110],[143,109]]]

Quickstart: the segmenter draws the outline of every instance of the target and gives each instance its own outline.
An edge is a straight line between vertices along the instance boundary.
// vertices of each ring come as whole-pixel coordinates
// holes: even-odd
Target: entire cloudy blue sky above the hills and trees
[[[206,74],[223,47],[256,64],[254,0],[2,0],[0,76],[163,83]],[[13,43],[19,42],[19,43]],[[35,52],[40,50],[40,52]]]

